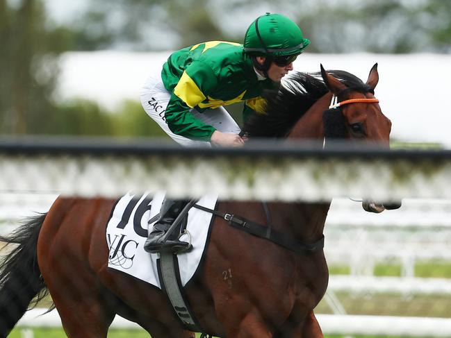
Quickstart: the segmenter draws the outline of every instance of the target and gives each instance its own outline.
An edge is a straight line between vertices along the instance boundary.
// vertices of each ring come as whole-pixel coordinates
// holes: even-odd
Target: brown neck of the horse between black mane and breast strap
[[[331,98],[332,94],[329,92],[316,101],[297,121],[288,134],[288,140],[322,140],[322,112],[329,107]],[[304,242],[315,242],[324,230],[329,205],[330,202],[270,203],[274,228]]]

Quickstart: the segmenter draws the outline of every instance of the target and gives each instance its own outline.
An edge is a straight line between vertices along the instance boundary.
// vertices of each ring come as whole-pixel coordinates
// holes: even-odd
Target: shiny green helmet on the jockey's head
[[[266,13],[247,28],[244,50],[251,55],[289,56],[302,53],[309,44],[288,17]]]

